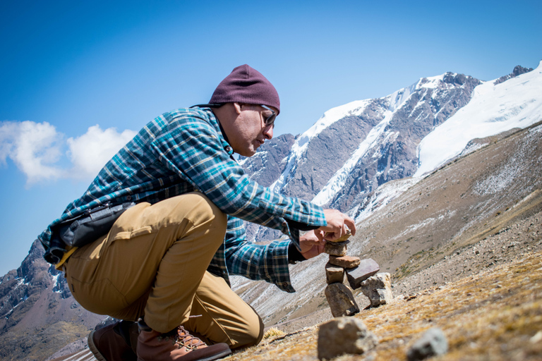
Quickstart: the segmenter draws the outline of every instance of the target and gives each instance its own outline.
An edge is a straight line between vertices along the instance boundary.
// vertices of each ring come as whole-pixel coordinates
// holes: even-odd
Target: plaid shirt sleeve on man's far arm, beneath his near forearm
[[[295,292],[288,269],[290,240],[274,241],[268,245],[248,242],[243,221],[228,217],[225,245],[229,274],[267,281],[286,292]]]

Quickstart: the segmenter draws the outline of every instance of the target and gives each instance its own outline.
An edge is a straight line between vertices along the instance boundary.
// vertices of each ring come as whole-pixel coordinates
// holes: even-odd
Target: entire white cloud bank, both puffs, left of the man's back
[[[92,179],[134,135],[133,130],[119,133],[96,125],[64,140],[64,134],[47,122],[5,121],[0,123],[0,165],[11,159],[27,177],[27,185],[59,178]],[[66,146],[68,152],[63,152]],[[64,157],[71,166],[59,165]]]

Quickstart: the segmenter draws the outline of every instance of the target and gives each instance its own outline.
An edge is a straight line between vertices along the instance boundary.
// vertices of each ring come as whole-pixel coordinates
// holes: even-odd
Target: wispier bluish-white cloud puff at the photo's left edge
[[[27,176],[27,183],[37,183],[63,176],[54,164],[61,157],[63,135],[51,124],[33,121],[3,122],[0,125],[0,162],[9,157]]]

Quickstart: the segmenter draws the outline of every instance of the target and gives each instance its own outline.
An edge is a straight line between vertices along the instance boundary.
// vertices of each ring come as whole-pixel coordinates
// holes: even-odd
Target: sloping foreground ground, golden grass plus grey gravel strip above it
[[[379,345],[335,360],[406,360],[409,346],[434,326],[444,332],[449,350],[431,360],[542,360],[540,216],[395,284],[392,304],[354,316],[378,336]],[[224,360],[318,360],[316,319],[325,317],[315,312],[289,322],[279,327],[289,329],[284,334]]]

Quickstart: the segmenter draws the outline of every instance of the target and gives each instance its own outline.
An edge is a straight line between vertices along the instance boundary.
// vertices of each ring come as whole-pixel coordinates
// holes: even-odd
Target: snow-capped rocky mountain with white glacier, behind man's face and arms
[[[337,106],[297,136],[282,161],[259,167],[253,178],[274,179],[273,190],[340,209],[359,221],[368,216],[380,185],[423,176],[457,157],[474,138],[539,121],[541,72],[542,66],[534,71],[517,66],[487,82],[445,73],[387,97]],[[256,159],[285,146],[272,140]],[[252,159],[242,164],[249,173],[255,169]],[[248,229],[254,240],[280,236],[267,228]]]

